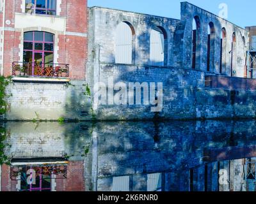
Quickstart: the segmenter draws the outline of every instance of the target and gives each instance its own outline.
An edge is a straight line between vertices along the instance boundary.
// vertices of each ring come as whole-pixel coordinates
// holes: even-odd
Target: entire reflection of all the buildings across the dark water
[[[1,167],[1,191],[255,190],[253,121],[7,122],[5,127],[12,166]],[[31,167],[42,178],[39,187],[21,180]]]

